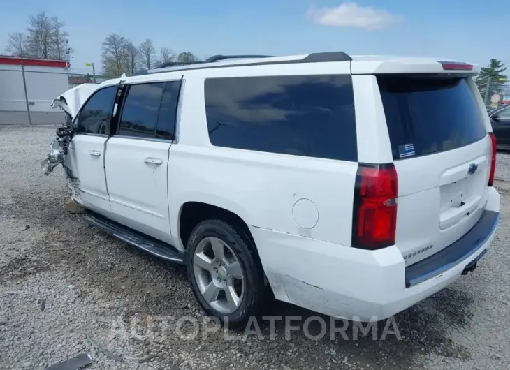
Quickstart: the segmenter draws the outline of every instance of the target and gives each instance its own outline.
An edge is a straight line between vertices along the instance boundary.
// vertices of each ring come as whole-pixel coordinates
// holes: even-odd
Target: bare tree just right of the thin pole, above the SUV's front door
[[[101,45],[103,73],[120,76],[126,73],[126,54],[129,40],[118,34],[108,35]]]

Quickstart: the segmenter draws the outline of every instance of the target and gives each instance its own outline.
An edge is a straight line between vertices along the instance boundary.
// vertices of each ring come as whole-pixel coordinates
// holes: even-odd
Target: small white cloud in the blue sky
[[[336,8],[311,8],[307,17],[323,26],[360,29],[383,29],[403,19],[387,10],[358,6],[356,3],[342,3]]]

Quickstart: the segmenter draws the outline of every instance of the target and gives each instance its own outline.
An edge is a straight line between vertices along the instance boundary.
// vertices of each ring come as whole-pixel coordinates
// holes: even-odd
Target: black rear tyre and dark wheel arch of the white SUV
[[[186,202],[180,209],[179,237],[184,245],[184,261],[187,266],[188,279],[196,299],[208,315],[216,316],[222,322],[228,321],[233,327],[242,326],[247,322],[249,316],[261,315],[270,302],[272,302],[274,295],[265,276],[254,238],[246,221],[238,214],[208,203]],[[228,272],[228,262],[226,265],[224,265],[224,262],[219,262],[218,266],[207,265],[207,270],[209,271],[205,273],[207,279],[204,280],[197,277],[201,275],[198,275],[196,263],[194,262],[196,250],[203,241],[211,237],[219,239],[228,249],[231,249],[235,253],[236,260],[242,266],[242,274],[244,275],[242,292],[244,294],[238,309],[229,313],[221,313],[218,311],[218,307],[213,306],[212,301],[207,300],[226,298],[226,296],[221,296],[218,290],[221,280],[218,280],[219,283],[214,283],[214,281],[216,279],[227,279],[224,283],[228,284],[229,278],[221,275],[220,277],[214,276],[218,273],[221,274],[218,271],[220,269],[219,266],[221,268],[226,267]],[[214,256],[208,255],[207,257],[217,258],[217,254],[214,253]],[[201,264],[199,266],[202,267]],[[217,267],[217,269],[214,269],[214,274],[212,267]],[[206,281],[207,286],[201,280]],[[217,287],[216,290],[218,290],[216,293],[217,297],[206,298],[205,292],[210,293],[210,287],[213,284]],[[224,288],[222,289],[226,292]],[[228,301],[228,299],[226,300]]]

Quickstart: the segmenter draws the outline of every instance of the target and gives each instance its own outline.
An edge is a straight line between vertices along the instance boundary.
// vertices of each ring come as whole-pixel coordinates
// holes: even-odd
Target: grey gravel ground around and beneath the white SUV
[[[312,341],[303,330],[286,340],[278,323],[273,338],[269,325],[261,325],[262,338],[230,331],[231,340],[201,325],[189,340],[179,333],[190,336],[195,327],[177,319],[204,318],[184,269],[64,212],[62,169],[45,177],[40,168],[53,133],[0,128],[0,369],[45,369],[82,352],[93,358],[90,369],[509,368],[507,154],[498,155],[502,222],[489,253],[476,272],[395,316],[401,340],[332,341],[328,334]],[[269,313],[315,315],[283,303]]]

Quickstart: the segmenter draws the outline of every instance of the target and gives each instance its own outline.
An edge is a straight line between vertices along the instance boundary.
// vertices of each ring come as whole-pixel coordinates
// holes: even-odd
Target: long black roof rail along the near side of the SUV
[[[197,61],[194,63],[184,63],[171,65],[170,67],[159,66],[158,68],[154,68],[150,71],[141,71],[140,73],[136,73],[136,75],[145,75],[152,73],[165,73],[165,72],[174,72],[174,71],[191,71],[194,69],[209,69],[209,68],[226,68],[226,67],[240,67],[240,66],[268,66],[271,64],[298,64],[298,63],[326,63],[326,62],[334,62],[334,61],[351,61],[352,58],[344,53],[344,52],[316,52],[312,54],[308,54],[303,59],[280,59],[274,60],[269,59],[268,61],[256,61],[255,63],[250,63],[249,61],[239,61],[239,63],[235,64],[218,64],[214,65],[214,61],[221,61],[224,59],[231,58],[271,58],[265,55],[215,55],[213,57],[208,58],[205,61]],[[174,63],[175,62],[169,62]],[[175,67],[175,68],[172,68]]]

